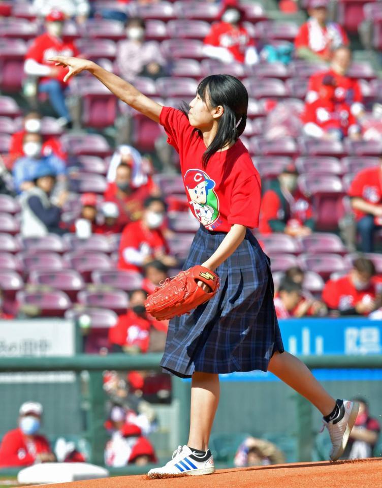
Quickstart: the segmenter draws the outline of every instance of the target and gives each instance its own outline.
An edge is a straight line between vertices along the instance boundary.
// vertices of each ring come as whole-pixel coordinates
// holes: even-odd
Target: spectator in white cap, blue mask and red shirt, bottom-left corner
[[[38,434],[42,414],[43,407],[38,402],[21,405],[18,428],[5,434],[0,445],[0,467],[13,468],[56,460],[48,440]]]

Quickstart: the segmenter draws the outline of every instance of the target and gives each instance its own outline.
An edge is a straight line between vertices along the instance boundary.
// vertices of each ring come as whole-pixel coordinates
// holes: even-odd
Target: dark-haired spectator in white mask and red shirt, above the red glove
[[[176,266],[177,261],[169,256],[170,250],[161,230],[165,210],[165,203],[160,198],[145,200],[142,219],[126,225],[122,232],[118,268],[142,271],[143,266],[154,259],[167,266]]]

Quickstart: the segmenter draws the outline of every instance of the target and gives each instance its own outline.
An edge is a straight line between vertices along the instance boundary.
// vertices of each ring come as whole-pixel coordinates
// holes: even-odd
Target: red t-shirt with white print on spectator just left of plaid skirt
[[[109,329],[109,342],[120,346],[138,346],[141,352],[147,352],[150,342],[150,322],[128,310],[120,315],[118,322]]]

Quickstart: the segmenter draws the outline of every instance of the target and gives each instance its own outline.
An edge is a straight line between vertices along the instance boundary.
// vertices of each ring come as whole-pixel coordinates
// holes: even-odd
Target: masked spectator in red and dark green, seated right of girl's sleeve
[[[305,236],[314,229],[312,207],[297,187],[298,172],[288,164],[263,195],[259,230],[262,234],[284,232]]]

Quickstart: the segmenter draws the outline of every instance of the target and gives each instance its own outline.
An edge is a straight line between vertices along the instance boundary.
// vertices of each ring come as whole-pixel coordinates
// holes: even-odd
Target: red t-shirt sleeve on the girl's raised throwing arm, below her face
[[[163,107],[159,117],[159,123],[164,127],[168,135],[167,142],[180,153],[184,141],[189,140],[189,136],[194,130],[188,122],[188,118],[183,112],[171,107]]]

